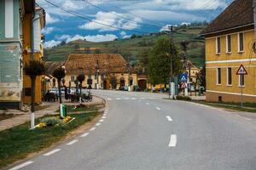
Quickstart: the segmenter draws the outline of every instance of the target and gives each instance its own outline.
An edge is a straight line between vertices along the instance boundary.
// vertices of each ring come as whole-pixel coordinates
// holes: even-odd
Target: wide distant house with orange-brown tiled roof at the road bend
[[[52,65],[57,64],[47,63],[47,72],[53,72],[55,66]],[[67,61],[62,65],[67,71],[65,77],[67,87],[69,83],[75,87],[75,81],[80,74],[85,76],[83,82],[85,88],[89,88],[88,80],[90,79],[91,88],[124,89],[130,87],[132,89],[137,86],[136,71],[120,54],[69,54]]]

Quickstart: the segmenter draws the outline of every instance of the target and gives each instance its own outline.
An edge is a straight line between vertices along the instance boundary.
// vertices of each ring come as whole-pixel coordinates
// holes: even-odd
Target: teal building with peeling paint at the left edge
[[[20,108],[22,101],[22,20],[32,0],[0,1],[0,108]]]

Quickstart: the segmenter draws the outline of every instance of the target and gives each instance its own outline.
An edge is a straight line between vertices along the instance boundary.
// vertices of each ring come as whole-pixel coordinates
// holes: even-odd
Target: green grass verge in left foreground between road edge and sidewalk
[[[90,122],[98,115],[98,111],[70,114],[68,116],[75,117],[75,120],[63,127],[45,127],[28,130],[30,124],[27,122],[0,132],[0,168],[24,159],[31,153],[49,147],[51,144],[63,139],[73,129],[83,125],[85,122]],[[36,122],[39,122],[40,119],[37,119]]]

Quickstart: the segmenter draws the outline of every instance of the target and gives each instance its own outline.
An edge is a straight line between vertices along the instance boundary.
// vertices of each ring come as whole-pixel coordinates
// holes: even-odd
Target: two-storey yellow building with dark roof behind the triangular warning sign
[[[256,102],[253,0],[235,0],[201,32],[206,39],[207,101]],[[248,75],[236,75],[244,65]]]

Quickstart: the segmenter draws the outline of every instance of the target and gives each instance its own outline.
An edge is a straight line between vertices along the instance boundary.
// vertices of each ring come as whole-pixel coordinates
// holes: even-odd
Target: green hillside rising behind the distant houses
[[[198,67],[204,65],[205,62],[204,39],[197,36],[203,28],[199,26],[188,27],[180,29],[174,34],[177,46],[180,46],[179,42],[183,40],[190,41],[187,56]],[[45,49],[45,56],[47,60],[60,61],[67,59],[68,54],[71,53],[111,53],[121,54],[126,60],[136,63],[139,52],[143,49],[149,50],[162,37],[169,36],[166,34],[152,34],[112,42],[86,42],[77,40],[55,48]]]

